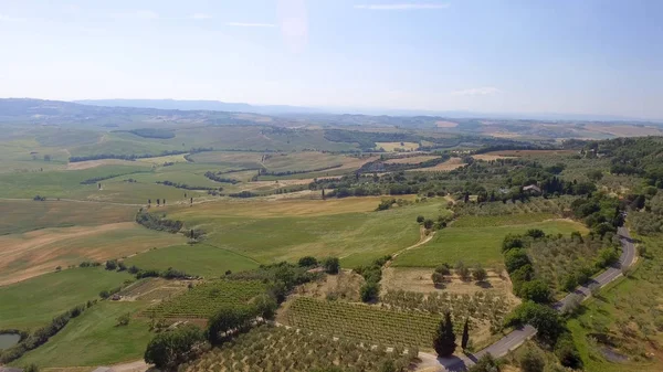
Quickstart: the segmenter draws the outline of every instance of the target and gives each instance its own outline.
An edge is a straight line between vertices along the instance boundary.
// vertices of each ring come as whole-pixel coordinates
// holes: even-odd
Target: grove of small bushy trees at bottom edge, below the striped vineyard
[[[408,368],[418,350],[402,348],[387,351],[383,347],[368,348],[356,341],[305,333],[285,327],[261,326],[240,334],[233,342],[213,349],[200,359],[180,366],[180,371],[315,371],[337,366],[343,371],[387,371]],[[391,370],[389,370],[391,371]]]

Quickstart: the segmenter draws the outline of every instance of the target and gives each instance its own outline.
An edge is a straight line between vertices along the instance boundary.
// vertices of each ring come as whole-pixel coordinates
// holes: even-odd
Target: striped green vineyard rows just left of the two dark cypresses
[[[291,326],[322,333],[350,337],[375,344],[431,348],[442,317],[394,311],[375,306],[296,298],[287,313]]]

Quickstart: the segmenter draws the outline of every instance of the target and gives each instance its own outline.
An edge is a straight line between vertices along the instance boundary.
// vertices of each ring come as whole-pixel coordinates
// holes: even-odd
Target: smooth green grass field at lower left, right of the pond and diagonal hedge
[[[117,326],[116,319],[127,312],[136,313],[145,306],[141,301],[98,302],[12,364],[94,366],[141,359],[152,337],[148,320],[133,317],[128,326]]]

